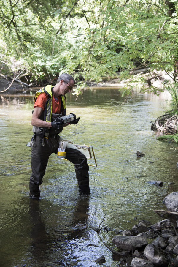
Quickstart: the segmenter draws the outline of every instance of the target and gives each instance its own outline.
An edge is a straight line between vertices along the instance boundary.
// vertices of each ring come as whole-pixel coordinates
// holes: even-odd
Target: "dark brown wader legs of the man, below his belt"
[[[31,150],[31,169],[29,189],[30,196],[38,198],[40,196],[39,186],[42,184],[42,178],[45,175],[45,170],[49,156],[52,153],[57,154],[59,143],[59,135],[56,137],[44,138],[45,146],[42,146],[42,137],[35,136]],[[89,174],[87,158],[77,149],[66,147],[66,159],[74,163],[76,178],[79,185],[80,194],[90,194]]]

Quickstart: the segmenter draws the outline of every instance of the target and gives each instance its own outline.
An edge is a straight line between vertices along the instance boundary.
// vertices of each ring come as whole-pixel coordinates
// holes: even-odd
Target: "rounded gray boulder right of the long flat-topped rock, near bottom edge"
[[[148,244],[144,250],[145,257],[150,260],[155,266],[167,267],[169,261],[160,254],[155,245]]]

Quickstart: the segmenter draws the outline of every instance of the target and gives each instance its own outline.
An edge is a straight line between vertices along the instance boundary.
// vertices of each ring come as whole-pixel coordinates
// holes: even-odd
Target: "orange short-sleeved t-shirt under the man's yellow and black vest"
[[[48,99],[48,95],[45,93],[39,94],[39,96],[36,99],[36,102],[34,103],[34,108],[35,107],[41,107],[43,110],[45,110],[45,103]],[[61,114],[61,97],[58,98],[57,102],[53,96],[52,99],[52,113],[55,114]]]

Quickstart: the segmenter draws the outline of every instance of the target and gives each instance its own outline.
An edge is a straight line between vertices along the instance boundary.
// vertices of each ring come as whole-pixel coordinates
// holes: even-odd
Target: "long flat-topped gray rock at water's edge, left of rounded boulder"
[[[114,236],[112,242],[123,250],[131,251],[147,245],[147,236]]]

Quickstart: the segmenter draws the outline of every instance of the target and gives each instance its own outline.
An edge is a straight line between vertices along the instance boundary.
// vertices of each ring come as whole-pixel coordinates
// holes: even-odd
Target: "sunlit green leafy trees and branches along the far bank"
[[[35,86],[68,72],[78,94],[88,81],[144,68],[166,72],[177,94],[177,12],[177,0],[1,0],[0,76]],[[133,81],[158,93],[151,78]]]

